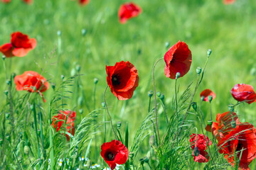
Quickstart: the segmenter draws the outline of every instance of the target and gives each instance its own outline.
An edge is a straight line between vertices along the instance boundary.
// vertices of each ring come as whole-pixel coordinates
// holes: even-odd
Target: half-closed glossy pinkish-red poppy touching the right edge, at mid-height
[[[231,89],[231,94],[237,101],[245,101],[249,104],[256,101],[255,91],[248,84],[235,84],[233,89]]]

